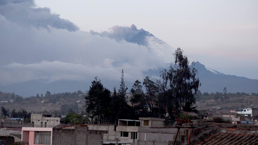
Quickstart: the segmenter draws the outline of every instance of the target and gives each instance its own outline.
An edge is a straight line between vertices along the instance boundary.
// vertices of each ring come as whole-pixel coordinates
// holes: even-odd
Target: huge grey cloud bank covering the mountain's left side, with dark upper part
[[[29,80],[85,81],[96,76],[120,80],[122,69],[125,80],[135,81],[145,77],[143,72],[148,69],[164,66],[145,46],[80,31],[48,8],[35,8],[34,1],[0,4],[0,33],[4,34],[0,35],[0,85]],[[112,29],[114,37],[125,33],[119,27]],[[132,35],[139,33],[136,28],[128,30]]]

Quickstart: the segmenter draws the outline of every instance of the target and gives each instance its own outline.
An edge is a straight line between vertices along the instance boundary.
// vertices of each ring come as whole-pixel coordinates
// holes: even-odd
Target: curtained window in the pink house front
[[[34,144],[50,144],[51,132],[35,131]]]

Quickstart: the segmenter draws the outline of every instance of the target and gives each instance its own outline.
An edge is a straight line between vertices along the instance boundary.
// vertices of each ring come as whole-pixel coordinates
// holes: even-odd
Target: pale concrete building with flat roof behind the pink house
[[[32,127],[54,127],[60,124],[60,117],[52,115],[31,114]]]

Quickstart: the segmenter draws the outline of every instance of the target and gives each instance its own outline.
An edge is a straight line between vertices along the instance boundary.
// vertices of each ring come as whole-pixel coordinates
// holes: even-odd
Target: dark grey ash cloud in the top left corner
[[[79,28],[60,15],[50,13],[47,7],[35,7],[34,0],[3,0],[0,1],[0,14],[7,21],[17,23],[23,27],[66,29],[75,31]]]

